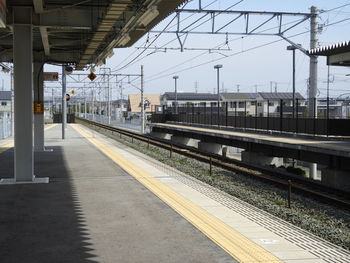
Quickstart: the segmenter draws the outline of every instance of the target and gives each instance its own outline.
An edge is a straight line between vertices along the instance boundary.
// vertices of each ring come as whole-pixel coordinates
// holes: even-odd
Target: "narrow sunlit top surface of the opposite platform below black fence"
[[[182,125],[176,125],[176,124],[154,123],[154,125],[163,126],[163,127],[174,127],[174,128],[187,129],[187,130],[193,130],[193,131],[203,131],[203,132],[210,132],[210,133],[217,133],[217,134],[241,136],[241,137],[260,139],[260,140],[272,141],[272,142],[290,143],[290,144],[298,144],[298,145],[303,145],[303,144],[314,145],[315,147],[321,146],[322,148],[329,148],[329,149],[336,149],[336,150],[342,150],[342,148],[345,148],[346,150],[348,150],[350,148],[349,142],[344,142],[344,141],[323,141],[323,140],[311,140],[311,139],[307,140],[307,139],[297,139],[297,138],[285,138],[285,137],[267,136],[267,135],[251,134],[251,133],[244,133],[244,132],[234,132],[234,131],[214,130],[214,129],[206,129],[206,128],[199,128],[199,127],[191,127],[191,126],[182,126]]]

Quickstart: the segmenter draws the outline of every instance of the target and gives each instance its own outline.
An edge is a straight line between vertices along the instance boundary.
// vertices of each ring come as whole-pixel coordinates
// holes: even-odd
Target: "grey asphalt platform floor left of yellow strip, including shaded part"
[[[49,184],[0,186],[0,262],[234,262],[70,126],[35,154]],[[13,175],[13,149],[0,154]]]

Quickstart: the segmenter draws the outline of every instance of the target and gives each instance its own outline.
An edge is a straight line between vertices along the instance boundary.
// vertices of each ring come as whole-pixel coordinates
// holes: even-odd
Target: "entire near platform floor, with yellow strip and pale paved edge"
[[[35,175],[0,186],[1,262],[349,262],[350,252],[70,124],[46,130]],[[0,178],[13,149],[0,144]],[[1,152],[2,150],[2,152]]]

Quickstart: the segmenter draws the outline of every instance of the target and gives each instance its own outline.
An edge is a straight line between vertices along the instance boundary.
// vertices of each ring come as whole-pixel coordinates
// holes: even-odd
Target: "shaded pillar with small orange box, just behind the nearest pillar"
[[[34,151],[44,151],[44,64],[34,63]]]

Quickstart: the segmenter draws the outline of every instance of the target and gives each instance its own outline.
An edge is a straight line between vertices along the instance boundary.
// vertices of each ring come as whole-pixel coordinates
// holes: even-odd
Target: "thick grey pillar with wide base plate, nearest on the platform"
[[[14,178],[0,184],[47,183],[35,178],[33,154],[33,31],[32,8],[13,9]]]

